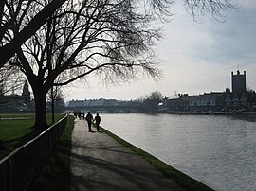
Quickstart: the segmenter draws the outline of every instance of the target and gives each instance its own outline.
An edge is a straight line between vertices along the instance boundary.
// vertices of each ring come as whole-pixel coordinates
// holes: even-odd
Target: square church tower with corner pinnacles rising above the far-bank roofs
[[[233,72],[231,72],[232,77],[232,92],[236,94],[242,94],[247,91],[247,85],[246,85],[246,71],[244,71],[244,74],[240,74],[240,71],[237,70],[237,74],[234,75]]]

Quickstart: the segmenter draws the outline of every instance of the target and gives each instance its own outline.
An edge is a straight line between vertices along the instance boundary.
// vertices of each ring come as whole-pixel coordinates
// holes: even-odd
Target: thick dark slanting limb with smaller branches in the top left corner
[[[46,23],[47,18],[60,8],[65,0],[47,2],[42,6],[40,0],[0,1],[0,67]],[[34,11],[34,7],[38,9]],[[32,20],[27,20],[28,13],[33,14]]]

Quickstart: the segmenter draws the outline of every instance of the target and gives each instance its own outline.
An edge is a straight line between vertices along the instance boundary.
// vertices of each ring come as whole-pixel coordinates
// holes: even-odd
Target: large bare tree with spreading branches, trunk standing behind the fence
[[[192,5],[194,1],[185,2]],[[44,3],[41,1],[40,6],[46,7]],[[34,94],[35,127],[46,128],[46,93],[52,86],[86,79],[91,74],[111,83],[143,75],[158,78],[160,71],[152,46],[161,35],[152,22],[169,16],[172,3],[67,0],[57,9],[46,25],[17,50],[20,62],[14,63],[27,76]],[[39,7],[33,9],[26,14],[27,22],[34,19],[34,12],[40,12]],[[62,81],[55,83],[56,78]]]

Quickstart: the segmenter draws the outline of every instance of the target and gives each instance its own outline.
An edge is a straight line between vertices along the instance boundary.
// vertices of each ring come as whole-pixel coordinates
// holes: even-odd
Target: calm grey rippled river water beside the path
[[[102,113],[101,126],[214,190],[256,190],[256,120]]]

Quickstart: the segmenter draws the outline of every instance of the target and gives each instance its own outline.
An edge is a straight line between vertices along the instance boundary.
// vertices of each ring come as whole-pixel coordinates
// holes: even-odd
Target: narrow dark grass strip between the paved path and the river
[[[108,136],[114,138],[116,141],[118,141],[121,145],[130,148],[133,150],[137,155],[144,158],[147,162],[149,162],[151,165],[154,165],[160,172],[162,172],[166,177],[172,179],[175,183],[177,183],[179,186],[186,190],[192,190],[192,191],[210,191],[213,190],[206,184],[202,182],[198,182],[195,179],[192,179],[192,177],[184,174],[183,172],[175,169],[171,165],[167,165],[166,163],[162,162],[161,160],[157,159],[155,156],[151,155],[150,153],[142,150],[141,148],[137,148],[136,146],[130,144],[129,142],[123,140],[118,135],[112,133],[109,130],[104,129],[101,127],[100,129],[102,132],[106,133]]]

